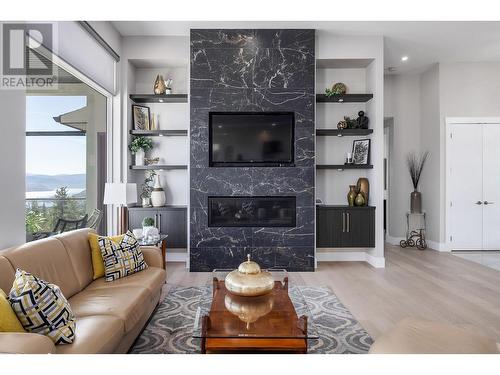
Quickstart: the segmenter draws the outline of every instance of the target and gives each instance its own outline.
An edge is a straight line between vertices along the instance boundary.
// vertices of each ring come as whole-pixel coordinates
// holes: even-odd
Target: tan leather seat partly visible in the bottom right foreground
[[[451,324],[406,318],[378,337],[370,354],[490,354],[500,344]]]

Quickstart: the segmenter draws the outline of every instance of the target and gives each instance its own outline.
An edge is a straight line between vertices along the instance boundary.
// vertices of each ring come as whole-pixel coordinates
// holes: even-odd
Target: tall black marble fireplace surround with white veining
[[[191,30],[191,271],[234,268],[248,253],[264,268],[314,270],[314,50],[314,30]],[[213,111],[293,111],[294,166],[209,167]],[[294,225],[209,226],[209,197],[252,196],[294,197]]]

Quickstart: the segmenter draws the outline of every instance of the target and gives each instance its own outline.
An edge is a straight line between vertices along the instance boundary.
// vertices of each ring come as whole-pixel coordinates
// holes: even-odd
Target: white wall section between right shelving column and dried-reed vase
[[[405,215],[413,190],[406,156],[408,152],[420,151],[420,76],[390,75],[385,77],[384,83],[384,116],[393,119],[390,124],[387,234],[399,238],[405,236]]]

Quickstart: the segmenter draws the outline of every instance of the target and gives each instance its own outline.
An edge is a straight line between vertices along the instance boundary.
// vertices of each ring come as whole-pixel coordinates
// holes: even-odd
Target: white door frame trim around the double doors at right
[[[451,186],[448,183],[450,179],[450,134],[455,124],[500,124],[500,117],[445,117],[445,249],[452,251],[452,242],[450,241],[451,223],[450,217],[450,197]]]

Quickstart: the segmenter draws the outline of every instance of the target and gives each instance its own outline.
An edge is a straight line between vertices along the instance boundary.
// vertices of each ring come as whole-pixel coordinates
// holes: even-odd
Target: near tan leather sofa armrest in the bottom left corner
[[[0,353],[47,354],[55,352],[56,347],[47,336],[28,332],[0,332]]]

